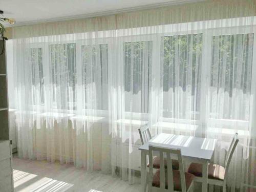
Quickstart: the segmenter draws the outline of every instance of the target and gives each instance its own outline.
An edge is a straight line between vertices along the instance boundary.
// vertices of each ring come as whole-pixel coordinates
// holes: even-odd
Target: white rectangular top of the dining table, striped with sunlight
[[[216,143],[217,139],[161,133],[140,146],[139,150],[148,151],[148,145],[152,144],[160,147],[180,148],[182,156],[185,157],[210,160]]]

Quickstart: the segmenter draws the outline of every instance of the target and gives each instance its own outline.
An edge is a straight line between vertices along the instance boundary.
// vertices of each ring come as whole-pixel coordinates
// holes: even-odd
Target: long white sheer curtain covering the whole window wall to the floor
[[[19,157],[134,183],[145,124],[153,135],[217,138],[220,164],[238,132],[229,189],[256,185],[255,5],[206,1],[14,28]]]

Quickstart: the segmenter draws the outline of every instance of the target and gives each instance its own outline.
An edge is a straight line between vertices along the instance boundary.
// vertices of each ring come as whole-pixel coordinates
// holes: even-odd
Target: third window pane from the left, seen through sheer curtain
[[[108,110],[108,45],[85,45],[81,49],[83,108]]]

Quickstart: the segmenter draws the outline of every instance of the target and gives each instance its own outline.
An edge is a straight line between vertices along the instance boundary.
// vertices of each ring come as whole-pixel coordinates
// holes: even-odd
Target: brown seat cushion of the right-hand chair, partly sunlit
[[[188,168],[188,173],[197,177],[202,177],[202,164],[191,163]],[[225,168],[221,165],[210,163],[208,165],[208,178],[224,180]]]

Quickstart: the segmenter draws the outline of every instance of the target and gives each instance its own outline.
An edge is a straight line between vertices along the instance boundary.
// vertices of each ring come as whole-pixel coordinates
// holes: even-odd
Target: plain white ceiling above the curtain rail
[[[193,0],[1,0],[4,16],[16,25],[178,4]],[[195,1],[195,0],[194,0]]]

